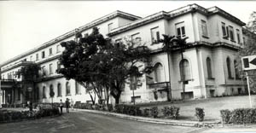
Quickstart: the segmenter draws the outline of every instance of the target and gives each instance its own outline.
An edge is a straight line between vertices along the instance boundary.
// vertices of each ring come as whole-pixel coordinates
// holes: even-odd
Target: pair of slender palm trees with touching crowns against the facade
[[[163,43],[163,49],[167,52],[167,57],[168,57],[168,69],[169,69],[169,82],[170,82],[170,86],[168,88],[167,91],[167,99],[168,101],[172,100],[172,90],[171,90],[171,71],[170,71],[170,55],[171,55],[171,51],[174,49],[179,49],[181,52],[181,57],[182,57],[182,61],[183,61],[183,52],[185,51],[185,49],[188,49],[190,44],[186,42],[186,39],[188,39],[188,37],[186,38],[180,38],[177,37],[175,38],[175,36],[169,36],[169,35],[162,35],[164,38],[160,39],[160,42]],[[182,75],[182,83],[183,83],[183,94],[185,92],[185,84],[184,84],[184,78],[185,78],[185,74],[183,73],[183,62],[182,62],[182,66],[181,66],[181,75]],[[183,99],[184,99],[184,95]]]

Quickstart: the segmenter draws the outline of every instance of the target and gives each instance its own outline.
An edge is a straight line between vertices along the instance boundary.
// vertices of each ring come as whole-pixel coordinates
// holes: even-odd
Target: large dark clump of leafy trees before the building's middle
[[[149,61],[149,49],[132,42],[112,43],[103,38],[96,27],[90,35],[76,37],[78,42],[61,43],[65,48],[60,57],[63,67],[57,72],[67,79],[75,79],[89,94],[91,91],[96,93],[99,101],[102,101],[102,92],[106,90],[110,91],[106,94],[113,95],[119,103],[125,80],[131,75],[143,75],[143,69],[135,67],[139,62]],[[91,94],[90,98],[94,102]]]

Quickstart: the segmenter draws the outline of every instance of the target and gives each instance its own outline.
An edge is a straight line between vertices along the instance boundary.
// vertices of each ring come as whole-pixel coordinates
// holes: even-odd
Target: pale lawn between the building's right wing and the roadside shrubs
[[[256,107],[256,95],[252,95],[253,107]],[[174,101],[174,102],[154,102],[139,104],[140,107],[154,107],[157,106],[161,113],[161,109],[165,106],[180,107],[179,119],[184,120],[197,120],[195,118],[195,107],[201,107],[205,110],[205,120],[220,120],[219,111],[222,109],[235,109],[241,107],[250,107],[248,95],[239,96],[226,96],[226,97],[214,97],[201,100],[191,101]]]

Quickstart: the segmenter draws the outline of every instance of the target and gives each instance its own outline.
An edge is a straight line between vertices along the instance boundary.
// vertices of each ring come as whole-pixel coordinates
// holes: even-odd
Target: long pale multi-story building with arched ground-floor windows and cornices
[[[195,99],[246,93],[246,84],[236,67],[240,61],[237,51],[244,47],[246,39],[251,38],[248,34],[252,33],[242,28],[245,26],[244,22],[223,9],[205,9],[197,4],[190,4],[144,18],[116,11],[78,29],[85,34],[90,33],[94,26],[97,26],[105,37],[108,35],[116,42],[129,37],[145,43],[152,50],[154,72],[139,78],[134,97],[130,85],[125,84],[121,102],[166,101],[167,94],[170,94],[172,99],[181,99],[182,95],[186,99]],[[187,42],[191,43],[192,47],[183,52],[183,61],[179,50],[173,50],[168,59],[160,43],[162,34],[188,37]],[[73,101],[90,101],[90,96],[86,95],[79,84],[74,80],[67,81],[55,72],[60,67],[58,57],[63,50],[60,42],[74,39],[73,35],[74,31],[67,32],[4,62],[1,65],[2,79],[14,78],[15,71],[24,63],[37,63],[42,68],[41,78],[32,93],[38,101],[49,102],[49,90],[55,91],[54,101],[66,98],[72,98]],[[182,63],[184,92],[180,74]],[[169,90],[171,93],[167,93]],[[19,91],[2,91],[4,103],[9,97],[12,97],[13,103],[22,102],[24,94]]]

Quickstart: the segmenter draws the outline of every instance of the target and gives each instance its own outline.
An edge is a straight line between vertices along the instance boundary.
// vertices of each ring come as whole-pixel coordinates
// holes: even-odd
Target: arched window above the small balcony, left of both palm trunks
[[[154,82],[164,82],[164,67],[162,66],[161,63],[156,63],[154,65]]]

